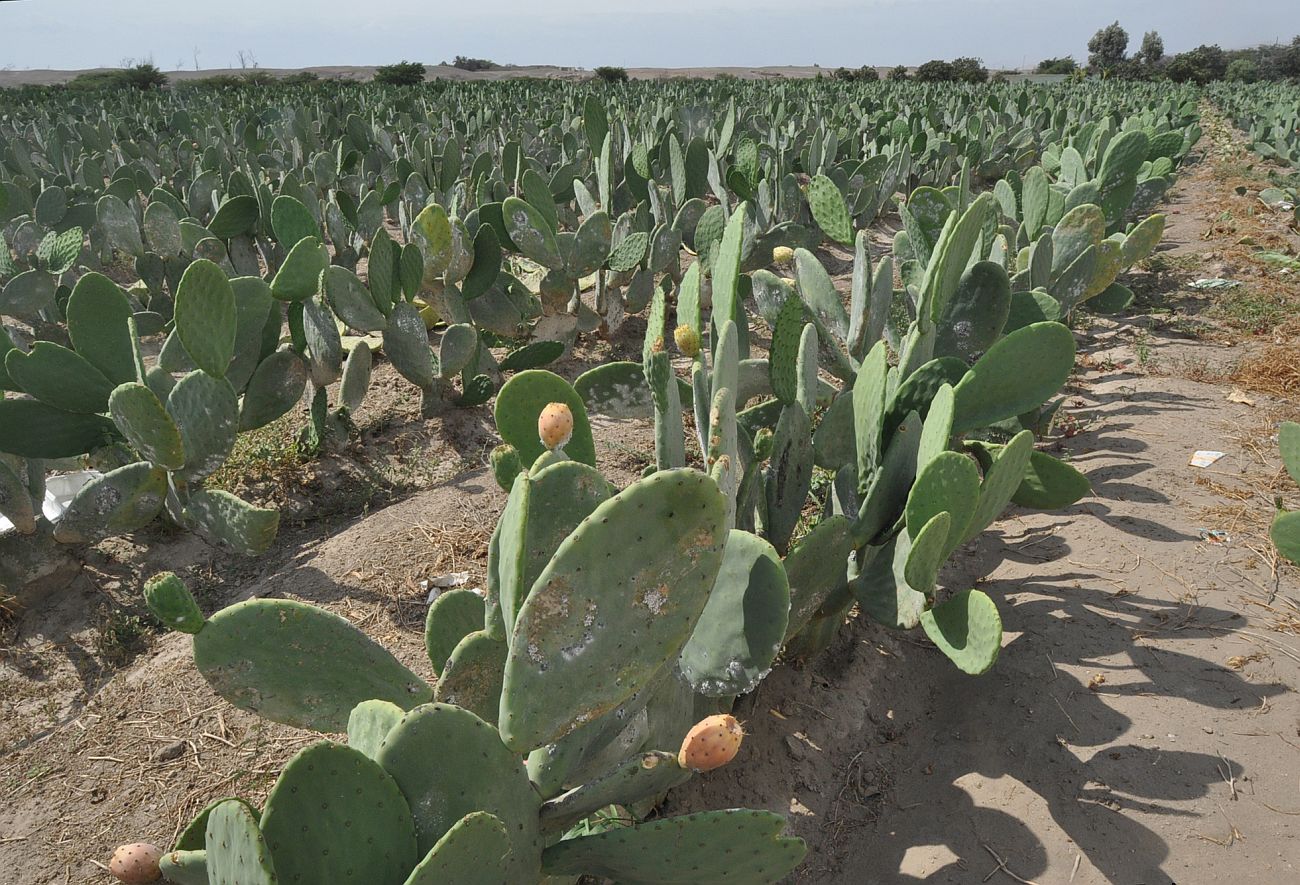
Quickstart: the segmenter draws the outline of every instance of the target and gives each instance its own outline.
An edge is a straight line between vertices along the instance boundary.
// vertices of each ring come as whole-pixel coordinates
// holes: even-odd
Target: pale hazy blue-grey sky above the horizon
[[[1118,18],[1138,48],[1170,52],[1300,31],[1296,0],[0,0],[0,68],[98,68],[152,58],[174,70],[369,65],[456,55],[592,68],[915,65],[979,56],[991,66],[1087,57]]]

